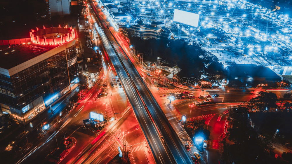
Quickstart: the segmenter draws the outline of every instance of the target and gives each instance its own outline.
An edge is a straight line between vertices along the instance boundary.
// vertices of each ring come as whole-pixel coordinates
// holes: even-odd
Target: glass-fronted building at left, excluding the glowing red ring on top
[[[26,123],[68,93],[72,83],[78,83],[75,41],[47,47],[19,44],[0,51],[0,56],[19,55],[25,58],[12,66],[0,62],[2,112]],[[27,60],[27,55],[32,56]],[[15,62],[18,62],[17,58]]]

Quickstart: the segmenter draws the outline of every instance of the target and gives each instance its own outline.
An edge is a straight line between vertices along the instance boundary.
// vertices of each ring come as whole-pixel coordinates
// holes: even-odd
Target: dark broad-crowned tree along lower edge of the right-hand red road
[[[256,107],[260,111],[265,111],[265,109],[270,110],[270,108],[277,108],[277,101],[278,99],[275,93],[263,91],[260,91],[256,97],[249,100],[251,109]]]

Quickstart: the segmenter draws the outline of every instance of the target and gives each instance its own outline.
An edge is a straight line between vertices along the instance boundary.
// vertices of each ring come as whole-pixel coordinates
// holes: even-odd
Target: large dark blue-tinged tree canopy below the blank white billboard
[[[181,71],[179,77],[200,78],[204,69],[205,75],[211,81],[226,77],[226,70],[218,58],[202,49],[200,44],[189,45],[183,39],[140,39],[128,32],[128,37],[138,52],[152,55],[153,59],[162,58],[163,61],[178,65]],[[216,76],[218,75],[218,76]]]

